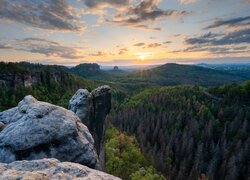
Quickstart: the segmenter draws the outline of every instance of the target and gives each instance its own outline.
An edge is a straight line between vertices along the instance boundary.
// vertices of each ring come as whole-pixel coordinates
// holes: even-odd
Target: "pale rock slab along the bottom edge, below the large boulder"
[[[15,161],[10,164],[0,163],[0,179],[119,180],[119,178],[101,171],[76,163],[60,162],[57,159]]]

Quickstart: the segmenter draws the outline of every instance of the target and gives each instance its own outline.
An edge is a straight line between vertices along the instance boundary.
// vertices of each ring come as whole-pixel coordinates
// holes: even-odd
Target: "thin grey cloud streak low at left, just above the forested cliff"
[[[57,42],[40,38],[17,39],[11,46],[18,51],[43,54],[47,57],[61,57],[66,59],[84,58],[84,56],[78,55],[78,48],[63,46]]]

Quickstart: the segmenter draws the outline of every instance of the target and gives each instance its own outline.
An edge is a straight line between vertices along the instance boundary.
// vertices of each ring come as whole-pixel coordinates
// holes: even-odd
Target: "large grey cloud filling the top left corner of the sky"
[[[1,0],[0,20],[19,22],[36,28],[82,32],[83,22],[65,0]]]

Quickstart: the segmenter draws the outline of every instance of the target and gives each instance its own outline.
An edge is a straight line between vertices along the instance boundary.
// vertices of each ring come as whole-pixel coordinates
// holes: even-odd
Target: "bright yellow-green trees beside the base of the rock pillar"
[[[122,179],[138,177],[141,168],[146,167],[148,162],[141,153],[135,138],[119,132],[113,126],[106,128],[105,137],[107,172]],[[146,169],[145,178],[160,177],[152,167]]]

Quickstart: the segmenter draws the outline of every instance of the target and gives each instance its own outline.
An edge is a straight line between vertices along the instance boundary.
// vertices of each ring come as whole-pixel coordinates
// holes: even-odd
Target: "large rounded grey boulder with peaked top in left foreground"
[[[0,113],[0,162],[57,158],[95,167],[88,128],[69,110],[26,96]]]

